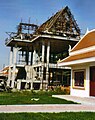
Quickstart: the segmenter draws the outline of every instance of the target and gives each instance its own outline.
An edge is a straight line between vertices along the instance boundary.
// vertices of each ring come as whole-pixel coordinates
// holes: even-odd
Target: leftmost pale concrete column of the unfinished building
[[[10,86],[10,80],[11,80],[11,65],[13,62],[13,47],[10,49],[10,59],[9,59],[9,74],[8,74],[8,81],[7,86]]]

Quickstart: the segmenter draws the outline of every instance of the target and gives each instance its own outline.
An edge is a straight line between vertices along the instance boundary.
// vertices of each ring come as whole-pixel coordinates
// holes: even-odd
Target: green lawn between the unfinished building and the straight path
[[[14,104],[74,104],[72,101],[52,98],[54,92],[1,92],[0,105],[14,105]],[[34,100],[38,99],[38,101]]]

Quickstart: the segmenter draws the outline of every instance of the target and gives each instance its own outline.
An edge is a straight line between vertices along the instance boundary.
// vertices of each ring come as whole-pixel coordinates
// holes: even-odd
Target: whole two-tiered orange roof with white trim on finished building
[[[88,60],[88,58],[91,59]],[[85,61],[83,61],[84,59]],[[64,66],[69,66],[70,64],[73,65],[75,62],[77,63],[79,60],[82,60],[82,62],[95,61],[95,30],[85,34],[84,37],[71,50],[70,55],[59,61],[59,64],[63,63]]]

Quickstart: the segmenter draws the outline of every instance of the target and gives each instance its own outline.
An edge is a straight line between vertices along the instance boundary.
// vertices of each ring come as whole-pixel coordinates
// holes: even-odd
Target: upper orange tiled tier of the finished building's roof
[[[85,35],[79,42],[78,44],[71,50],[77,51],[83,48],[91,47],[95,45],[95,30],[89,32],[87,35]]]

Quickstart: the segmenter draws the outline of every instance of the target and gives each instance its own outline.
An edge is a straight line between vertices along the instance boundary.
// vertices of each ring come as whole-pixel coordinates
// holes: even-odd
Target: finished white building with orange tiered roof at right
[[[71,67],[72,96],[95,96],[95,29],[88,31],[58,65]]]

